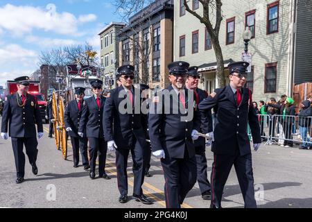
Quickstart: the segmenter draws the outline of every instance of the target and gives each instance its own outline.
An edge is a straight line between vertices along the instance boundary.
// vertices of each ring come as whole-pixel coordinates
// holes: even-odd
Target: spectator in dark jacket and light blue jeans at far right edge
[[[309,100],[305,100],[302,102],[302,109],[298,114],[298,124],[300,128],[301,138],[302,138],[302,145],[300,145],[300,149],[307,150],[310,146],[312,146],[312,142],[307,137],[307,133],[309,133],[309,128],[311,127],[311,118],[312,117],[312,106]]]

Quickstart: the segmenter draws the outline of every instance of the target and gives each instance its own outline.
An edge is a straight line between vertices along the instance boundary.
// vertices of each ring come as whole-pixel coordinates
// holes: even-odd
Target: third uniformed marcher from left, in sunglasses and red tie
[[[78,135],[83,138],[86,134],[89,140],[89,176],[92,180],[96,176],[96,157],[98,157],[98,178],[110,180],[110,177],[105,173],[107,145],[104,139],[102,119],[103,115],[105,115],[103,109],[106,98],[101,96],[102,85],[103,82],[101,80],[93,80],[91,82],[94,95],[85,100],[78,127]]]

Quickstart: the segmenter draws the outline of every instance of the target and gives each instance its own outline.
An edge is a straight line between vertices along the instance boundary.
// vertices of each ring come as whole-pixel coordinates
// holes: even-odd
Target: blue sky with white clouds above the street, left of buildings
[[[120,22],[108,0],[0,0],[0,85],[35,71],[40,51],[89,42],[99,49],[98,33]]]

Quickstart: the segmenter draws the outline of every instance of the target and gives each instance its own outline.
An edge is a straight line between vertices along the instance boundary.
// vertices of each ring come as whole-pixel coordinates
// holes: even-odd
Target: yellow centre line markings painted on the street
[[[49,130],[48,130],[47,128],[44,127],[44,129],[45,129],[45,131],[47,131],[47,133],[49,133]],[[71,144],[69,144],[69,143],[67,144],[67,146],[73,148],[73,146],[71,146]],[[98,162],[96,162],[96,163],[98,164]],[[114,170],[116,170],[116,167],[114,166],[114,163],[113,163],[113,162],[106,161],[106,164],[107,164],[110,168],[113,168]],[[109,171],[112,175],[116,176],[117,173],[116,173],[116,171],[114,171],[113,169],[107,169],[107,168],[106,168],[106,171]],[[129,173],[129,174],[130,174],[129,176],[133,176],[132,173]],[[130,178],[130,177],[128,177],[128,178]],[[128,180],[128,185],[130,185],[131,187],[134,187],[134,183],[132,182],[132,180]],[[154,187],[153,185],[151,185],[151,184],[148,183],[148,182],[144,182],[143,185],[144,185],[145,187],[148,187],[149,189],[155,191],[157,194],[159,194],[159,196],[164,197],[163,191],[162,191],[161,189],[158,189],[157,187]],[[148,197],[150,197],[150,198],[153,198],[153,199],[156,201],[156,203],[159,203],[160,205],[166,207],[166,203],[165,203],[164,200],[158,198],[158,197],[155,196],[154,194],[151,194],[150,191],[144,189],[143,187],[142,187],[142,190],[144,191],[144,194],[146,194],[146,196],[148,196]],[[187,205],[186,203],[183,203],[181,206],[184,207],[184,208],[193,208],[193,207],[191,207],[190,205]]]

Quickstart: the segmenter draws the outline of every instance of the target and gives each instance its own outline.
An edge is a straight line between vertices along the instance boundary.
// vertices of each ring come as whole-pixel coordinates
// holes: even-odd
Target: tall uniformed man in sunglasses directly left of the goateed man
[[[107,149],[116,148],[116,169],[118,188],[120,192],[119,203],[128,201],[128,155],[131,151],[134,174],[133,197],[144,204],[152,202],[144,196],[141,186],[144,183],[146,135],[142,126],[144,118],[141,110],[140,89],[132,85],[135,67],[123,65],[117,69],[121,86],[112,89],[110,97],[105,102],[104,134],[107,140]],[[122,109],[121,109],[122,108]]]

